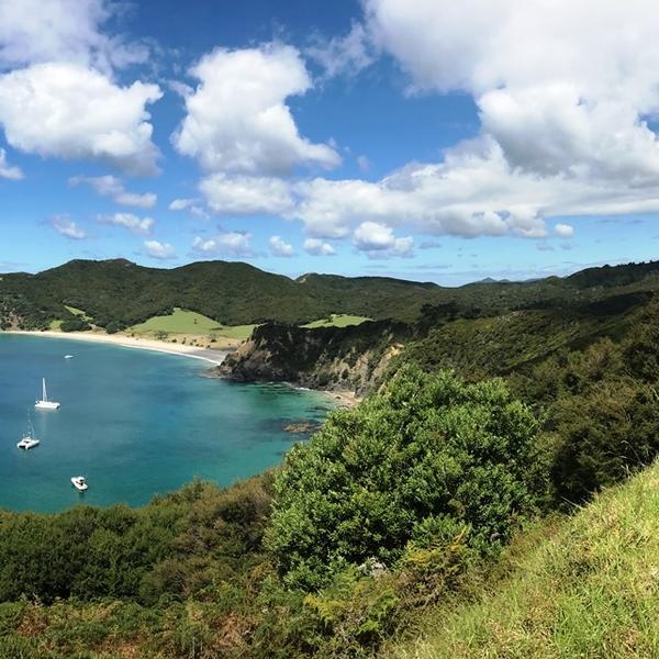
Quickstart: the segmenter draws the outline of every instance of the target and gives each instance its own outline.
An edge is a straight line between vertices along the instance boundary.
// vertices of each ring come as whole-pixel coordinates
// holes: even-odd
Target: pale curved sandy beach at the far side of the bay
[[[165,353],[167,355],[178,355],[191,359],[201,359],[219,366],[232,350],[220,350],[213,348],[199,348],[197,346],[186,346],[182,344],[172,344],[154,338],[137,338],[125,336],[123,334],[100,334],[93,332],[55,332],[46,330],[44,332],[27,330],[8,330],[0,332],[13,336],[44,336],[46,338],[63,338],[65,340],[83,340],[88,343],[103,343],[124,348],[137,348],[142,350],[152,350],[154,353]]]

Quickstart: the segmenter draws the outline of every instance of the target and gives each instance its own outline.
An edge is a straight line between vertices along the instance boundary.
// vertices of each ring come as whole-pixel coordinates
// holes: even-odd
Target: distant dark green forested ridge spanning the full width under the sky
[[[172,269],[148,268],[124,258],[75,259],[37,275],[0,277],[0,324],[44,328],[81,309],[101,327],[119,328],[171,313],[202,313],[225,325],[302,324],[331,314],[413,322],[429,308],[451,304],[479,315],[594,302],[601,289],[655,289],[659,263],[588,268],[567,278],[512,282],[487,278],[459,288],[391,277],[343,277],[309,272],[291,279],[239,261],[198,261]]]

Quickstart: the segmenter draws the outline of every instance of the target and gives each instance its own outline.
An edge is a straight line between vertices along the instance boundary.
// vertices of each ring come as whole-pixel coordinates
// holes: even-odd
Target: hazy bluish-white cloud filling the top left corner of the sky
[[[0,69],[72,62],[109,72],[145,62],[145,45],[100,31],[118,10],[107,0],[0,0]]]

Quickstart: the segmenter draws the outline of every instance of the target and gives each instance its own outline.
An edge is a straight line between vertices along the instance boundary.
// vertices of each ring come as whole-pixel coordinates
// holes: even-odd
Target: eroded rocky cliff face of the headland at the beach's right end
[[[316,330],[263,325],[213,375],[361,394],[377,386],[409,332],[389,321]]]

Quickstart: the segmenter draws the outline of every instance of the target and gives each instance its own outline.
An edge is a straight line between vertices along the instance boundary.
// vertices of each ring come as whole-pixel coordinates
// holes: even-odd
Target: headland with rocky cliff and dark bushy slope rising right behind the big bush
[[[614,294],[563,309],[462,317],[454,305],[426,309],[417,323],[379,321],[356,327],[306,330],[264,325],[216,373],[237,381],[288,381],[364,393],[392,360],[426,371],[457,370],[463,378],[505,376],[561,349],[602,337],[619,339],[637,326],[650,291]]]

